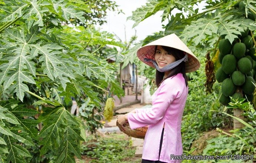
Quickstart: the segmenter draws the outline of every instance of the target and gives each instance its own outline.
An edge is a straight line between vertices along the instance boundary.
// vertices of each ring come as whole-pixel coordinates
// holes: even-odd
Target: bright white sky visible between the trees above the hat
[[[137,42],[145,39],[148,35],[153,34],[154,32],[163,31],[162,22],[161,22],[161,14],[163,12],[158,12],[155,15],[145,19],[140,22],[138,26],[132,28],[134,21],[128,20],[127,17],[132,15],[132,11],[136,10],[136,8],[144,6],[147,0],[115,0],[116,4],[119,5],[119,10],[122,10],[124,14],[114,11],[107,12],[107,23],[101,25],[101,31],[108,31],[112,34],[116,34],[119,38],[121,38],[122,42],[125,41],[125,33],[126,33],[126,41],[135,34],[137,35]],[[163,24],[167,24],[163,22]]]

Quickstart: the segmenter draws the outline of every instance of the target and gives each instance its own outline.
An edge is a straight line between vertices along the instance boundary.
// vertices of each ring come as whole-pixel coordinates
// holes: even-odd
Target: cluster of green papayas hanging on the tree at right
[[[247,98],[253,101],[256,80],[256,47],[249,29],[241,32],[239,39],[230,44],[228,39],[219,41],[219,62],[216,80],[221,84],[219,101],[223,105],[233,99]],[[240,88],[243,92],[237,93]]]

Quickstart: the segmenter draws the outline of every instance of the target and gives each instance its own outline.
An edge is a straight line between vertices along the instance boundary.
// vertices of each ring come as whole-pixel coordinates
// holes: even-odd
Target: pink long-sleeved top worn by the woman
[[[170,155],[180,156],[183,153],[181,143],[181,118],[187,100],[188,87],[181,73],[164,80],[152,95],[152,108],[135,109],[128,113],[131,129],[147,126],[142,150],[142,159],[158,160],[161,133],[164,136],[159,160],[176,163]]]

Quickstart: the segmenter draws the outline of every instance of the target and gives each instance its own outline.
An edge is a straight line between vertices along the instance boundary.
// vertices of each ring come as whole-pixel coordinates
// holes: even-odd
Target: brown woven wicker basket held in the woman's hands
[[[116,121],[116,126],[121,130],[121,125]],[[124,124],[125,134],[134,138],[144,139],[148,128],[140,127],[131,129],[129,123]]]

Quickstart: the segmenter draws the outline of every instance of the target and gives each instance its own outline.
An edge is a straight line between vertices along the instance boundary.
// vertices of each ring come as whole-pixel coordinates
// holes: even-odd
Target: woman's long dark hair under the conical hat
[[[182,59],[185,54],[183,53],[183,51],[180,51],[178,49],[175,49],[175,48],[171,48],[171,47],[168,47],[168,46],[161,46],[165,51],[167,51],[168,53],[172,54],[176,60],[179,60],[179,59]],[[155,46],[155,53],[157,51],[157,46]],[[156,69],[157,70],[157,69]],[[157,84],[157,87],[160,86],[160,84],[167,78],[169,77],[172,77],[172,76],[175,76],[177,75],[178,73],[182,73],[183,74],[183,77],[185,79],[185,83],[186,83],[186,86],[188,85],[188,82],[187,82],[187,76],[186,76],[186,72],[185,72],[185,62],[181,62],[178,66],[174,67],[170,74],[168,74],[168,76],[166,76],[164,78],[164,72],[160,72],[157,70],[157,72],[155,73],[155,83]]]

